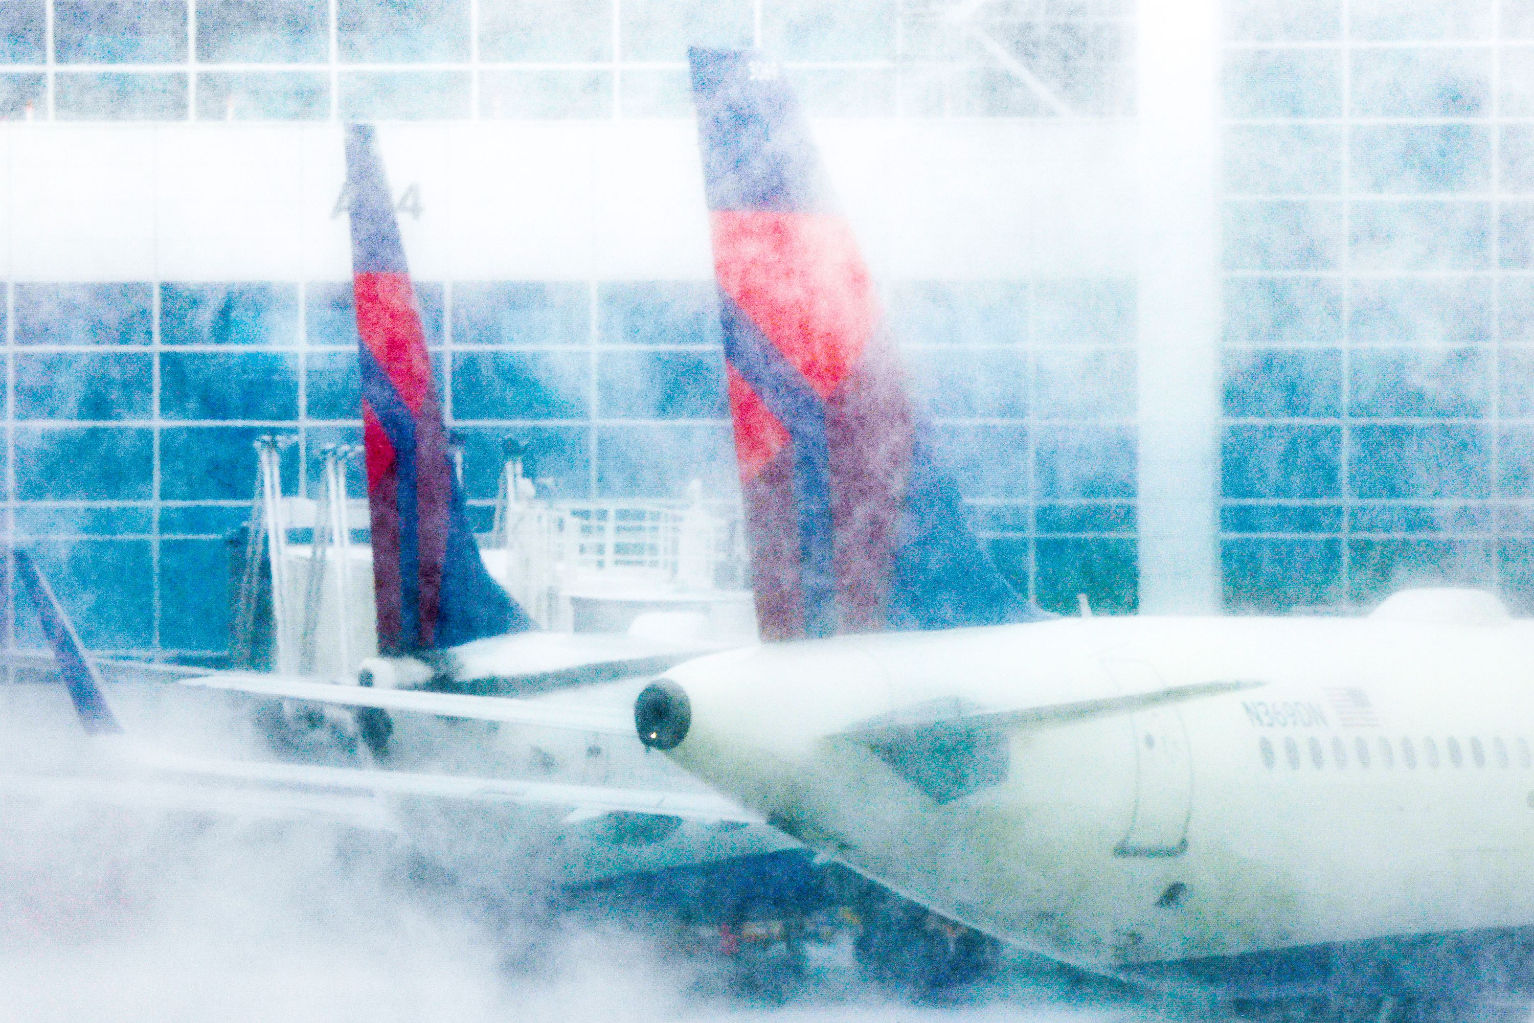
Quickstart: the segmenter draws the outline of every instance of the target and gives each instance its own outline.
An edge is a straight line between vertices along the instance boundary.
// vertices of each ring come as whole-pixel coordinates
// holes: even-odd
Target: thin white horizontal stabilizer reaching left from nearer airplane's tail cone
[[[301,699],[336,707],[376,707],[379,710],[414,712],[437,718],[499,721],[503,724],[569,729],[574,732],[601,732],[604,735],[634,735],[634,713],[627,707],[555,704],[542,699],[514,699],[511,696],[465,696],[462,693],[436,693],[416,689],[364,689],[360,686],[311,683],[258,672],[219,672],[218,675],[183,678],[178,681],[181,686],[193,689],[221,689],[250,696]]]

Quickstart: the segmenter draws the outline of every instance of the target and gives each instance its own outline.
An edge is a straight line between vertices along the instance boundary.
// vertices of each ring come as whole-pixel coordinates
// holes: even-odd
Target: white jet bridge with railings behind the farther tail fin
[[[284,675],[341,678],[377,653],[368,505],[347,491],[356,445],[321,448],[316,497],[282,492],[282,451],[256,440],[252,514],[232,543],[232,658]],[[460,466],[462,474],[462,466]],[[755,635],[736,508],[689,486],[678,502],[551,502],[508,452],[485,567],[545,629]]]

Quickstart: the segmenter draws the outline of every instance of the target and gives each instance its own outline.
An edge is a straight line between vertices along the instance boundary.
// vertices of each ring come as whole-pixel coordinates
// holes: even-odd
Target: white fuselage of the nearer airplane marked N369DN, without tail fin
[[[1094,971],[1519,928],[1534,925],[1531,650],[1534,623],[1463,592],[1361,620],[844,636],[672,669],[690,727],[669,755],[896,891]],[[1016,727],[1000,773],[957,796],[836,735],[934,701],[1210,681],[1256,686]]]

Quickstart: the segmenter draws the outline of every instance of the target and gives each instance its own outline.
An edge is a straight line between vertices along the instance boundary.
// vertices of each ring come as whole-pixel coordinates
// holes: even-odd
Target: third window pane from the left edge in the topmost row
[[[198,0],[196,57],[213,63],[324,63],[328,23],[325,0]]]

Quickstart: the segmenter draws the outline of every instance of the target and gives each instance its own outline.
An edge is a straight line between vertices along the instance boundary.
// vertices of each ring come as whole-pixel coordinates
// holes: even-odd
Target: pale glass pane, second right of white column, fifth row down
[[[1491,340],[1491,278],[1362,278],[1348,304],[1355,344]]]

